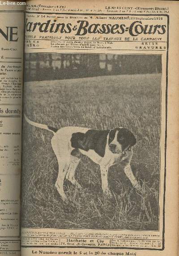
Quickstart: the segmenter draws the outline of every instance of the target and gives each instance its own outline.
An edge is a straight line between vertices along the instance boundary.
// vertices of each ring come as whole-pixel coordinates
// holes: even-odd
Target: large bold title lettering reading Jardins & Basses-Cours
[[[131,36],[139,34],[165,34],[166,25],[158,24],[143,24],[142,21],[133,21],[130,26],[125,24],[99,24],[78,20],[76,24],[72,23],[57,23],[57,20],[47,20],[45,22],[32,22],[26,18],[26,31],[34,32],[38,30],[43,33],[64,33],[69,34],[74,31],[75,35],[86,34],[124,34],[128,32]]]

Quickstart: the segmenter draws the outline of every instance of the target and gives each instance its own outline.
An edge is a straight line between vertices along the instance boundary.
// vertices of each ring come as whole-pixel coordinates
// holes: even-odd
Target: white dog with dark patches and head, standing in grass
[[[65,178],[81,188],[75,179],[75,170],[83,155],[88,156],[100,166],[102,190],[108,196],[111,196],[111,192],[107,174],[109,167],[115,164],[121,165],[133,187],[141,190],[140,183],[133,175],[130,166],[133,155],[132,146],[136,144],[136,138],[128,129],[119,127],[102,131],[69,126],[58,130],[45,124],[35,123],[26,115],[24,116],[29,124],[54,133],[51,146],[59,165],[55,187],[63,200],[66,200],[63,188]]]

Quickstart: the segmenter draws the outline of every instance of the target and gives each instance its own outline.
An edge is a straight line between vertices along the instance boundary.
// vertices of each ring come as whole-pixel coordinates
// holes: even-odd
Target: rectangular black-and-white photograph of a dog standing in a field
[[[158,230],[161,56],[25,57],[22,227]]]

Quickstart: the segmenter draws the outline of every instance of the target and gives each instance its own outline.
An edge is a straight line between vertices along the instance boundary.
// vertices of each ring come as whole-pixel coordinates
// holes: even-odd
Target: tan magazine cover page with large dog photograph
[[[175,1],[28,1],[21,255],[177,255]]]

